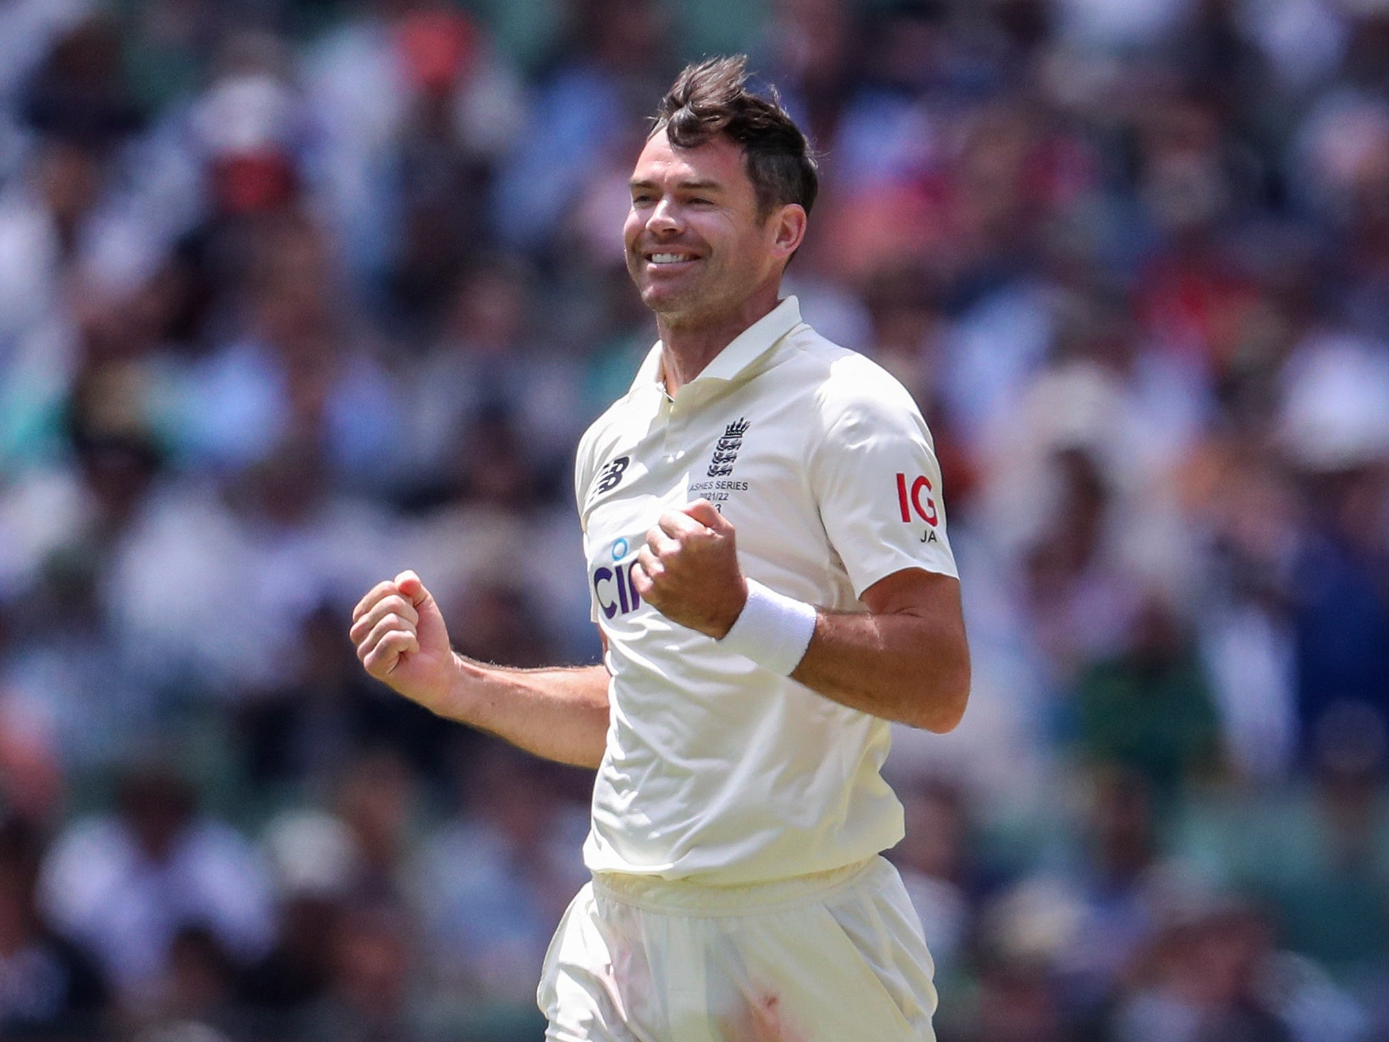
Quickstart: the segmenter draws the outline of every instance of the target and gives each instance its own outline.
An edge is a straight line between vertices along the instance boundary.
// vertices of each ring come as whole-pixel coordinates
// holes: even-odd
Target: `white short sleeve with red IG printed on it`
[[[904,568],[958,577],[926,422],[900,383],[863,365],[821,392],[810,477],[829,542],[854,596]]]

